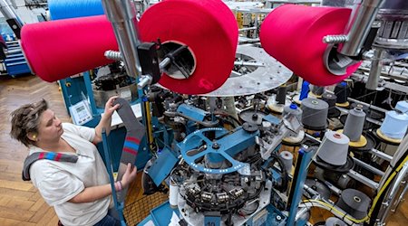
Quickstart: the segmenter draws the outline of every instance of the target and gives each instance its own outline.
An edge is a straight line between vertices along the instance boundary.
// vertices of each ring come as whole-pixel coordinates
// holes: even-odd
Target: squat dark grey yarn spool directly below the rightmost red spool
[[[302,100],[302,124],[306,127],[325,127],[328,104],[321,99]]]

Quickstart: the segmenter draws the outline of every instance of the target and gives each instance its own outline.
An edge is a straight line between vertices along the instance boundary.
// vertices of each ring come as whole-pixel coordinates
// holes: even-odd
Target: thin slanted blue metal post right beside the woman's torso
[[[119,220],[121,221],[121,226],[126,226],[126,223],[123,217],[124,202],[118,202],[118,196],[116,194],[116,189],[115,189],[115,184],[114,184],[115,180],[113,178],[113,167],[112,167],[111,157],[109,157],[111,153],[108,147],[109,139],[106,137],[106,132],[104,128],[102,131],[102,144],[103,144],[103,153],[105,154],[105,156],[107,156],[106,157],[106,167],[107,167],[108,174],[109,174],[109,180],[111,181],[113,204],[115,205],[115,209],[118,211]]]

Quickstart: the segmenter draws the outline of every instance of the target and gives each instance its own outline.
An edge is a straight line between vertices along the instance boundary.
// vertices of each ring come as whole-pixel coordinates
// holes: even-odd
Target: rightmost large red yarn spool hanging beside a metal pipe
[[[342,34],[351,9],[281,5],[267,15],[259,38],[269,55],[282,62],[296,75],[317,86],[344,80],[357,70],[360,62],[335,75],[325,67],[326,35]],[[299,15],[302,15],[299,17]]]

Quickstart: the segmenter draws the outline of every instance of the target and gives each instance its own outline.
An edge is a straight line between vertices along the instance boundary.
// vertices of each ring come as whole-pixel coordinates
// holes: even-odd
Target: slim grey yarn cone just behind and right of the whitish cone
[[[363,133],[365,113],[362,108],[354,108],[348,111],[345,119],[345,130],[343,134],[351,141],[358,141]]]

